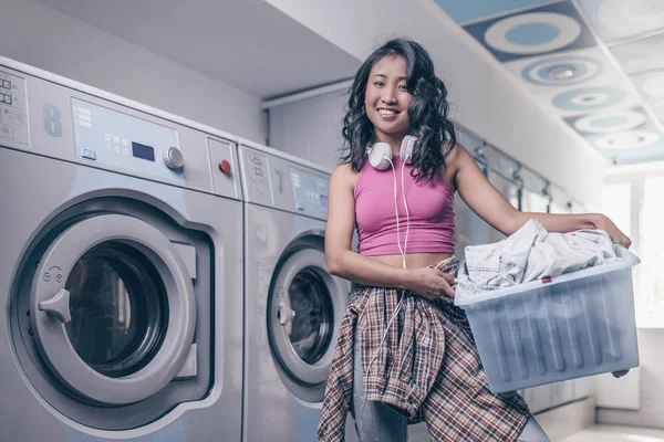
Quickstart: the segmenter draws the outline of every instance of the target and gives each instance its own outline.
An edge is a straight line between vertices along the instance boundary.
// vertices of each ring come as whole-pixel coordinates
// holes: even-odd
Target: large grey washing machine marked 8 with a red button
[[[234,137],[0,59],[0,440],[239,441]]]

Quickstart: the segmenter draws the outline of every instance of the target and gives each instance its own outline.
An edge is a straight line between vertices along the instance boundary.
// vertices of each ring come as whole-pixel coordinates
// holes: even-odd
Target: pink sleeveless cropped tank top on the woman
[[[393,158],[396,171],[396,207],[402,249],[406,236],[406,210],[402,196],[402,161]],[[411,218],[406,253],[454,253],[454,194],[436,175],[433,182],[415,182],[412,166],[404,170],[404,187]],[[394,175],[392,168],[376,170],[369,160],[360,170],[354,189],[355,222],[362,255],[400,254],[396,241]]]

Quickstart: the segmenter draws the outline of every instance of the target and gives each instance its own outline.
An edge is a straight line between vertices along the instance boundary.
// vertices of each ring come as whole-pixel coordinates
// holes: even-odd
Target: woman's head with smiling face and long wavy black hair
[[[411,134],[418,139],[411,157],[414,170],[418,179],[432,180],[456,144],[448,112],[447,88],[426,51],[385,44],[355,75],[343,127],[349,152],[341,160],[360,171],[373,143],[385,141],[398,154],[401,139]],[[440,155],[446,140],[447,150]]]

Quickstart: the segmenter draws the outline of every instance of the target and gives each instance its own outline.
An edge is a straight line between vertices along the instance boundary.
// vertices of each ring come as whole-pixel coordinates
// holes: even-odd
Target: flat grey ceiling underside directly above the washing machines
[[[263,0],[37,1],[261,98],[346,80],[360,66]]]

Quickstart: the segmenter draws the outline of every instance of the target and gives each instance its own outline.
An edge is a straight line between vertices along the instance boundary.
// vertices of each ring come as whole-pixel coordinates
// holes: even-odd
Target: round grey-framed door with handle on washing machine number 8
[[[194,288],[175,246],[122,214],[74,222],[50,243],[31,288],[41,356],[74,394],[127,404],[180,370],[196,324]]]

